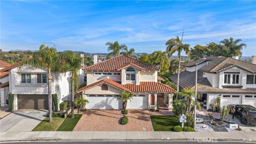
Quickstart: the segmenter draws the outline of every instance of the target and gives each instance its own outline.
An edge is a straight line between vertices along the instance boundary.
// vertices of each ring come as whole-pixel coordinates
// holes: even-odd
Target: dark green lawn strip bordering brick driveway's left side
[[[76,124],[78,123],[79,119],[82,117],[82,114],[75,115],[75,118],[71,118],[71,115],[69,115],[63,123],[60,125],[57,131],[73,131]]]

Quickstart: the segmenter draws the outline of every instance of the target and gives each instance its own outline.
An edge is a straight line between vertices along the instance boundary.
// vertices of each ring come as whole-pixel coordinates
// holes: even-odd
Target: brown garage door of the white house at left
[[[18,109],[48,109],[46,94],[18,94]]]

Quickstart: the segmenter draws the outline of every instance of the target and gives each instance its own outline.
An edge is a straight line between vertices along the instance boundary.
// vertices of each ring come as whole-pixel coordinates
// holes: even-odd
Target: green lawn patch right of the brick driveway
[[[180,125],[175,116],[150,116],[154,131],[173,131],[173,127]]]

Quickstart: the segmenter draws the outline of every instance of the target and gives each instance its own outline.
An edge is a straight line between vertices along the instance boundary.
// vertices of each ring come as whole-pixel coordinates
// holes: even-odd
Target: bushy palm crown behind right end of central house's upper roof
[[[159,71],[161,72],[165,72],[167,70],[169,70],[170,67],[170,61],[167,57],[167,53],[166,52],[162,52],[162,51],[155,51],[153,53],[150,54],[150,63],[153,63],[153,66],[159,66]]]

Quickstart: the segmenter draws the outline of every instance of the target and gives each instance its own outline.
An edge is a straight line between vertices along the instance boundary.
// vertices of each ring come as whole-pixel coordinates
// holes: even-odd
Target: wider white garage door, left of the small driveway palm
[[[115,96],[117,95],[87,95],[87,109],[122,109],[122,101]]]

